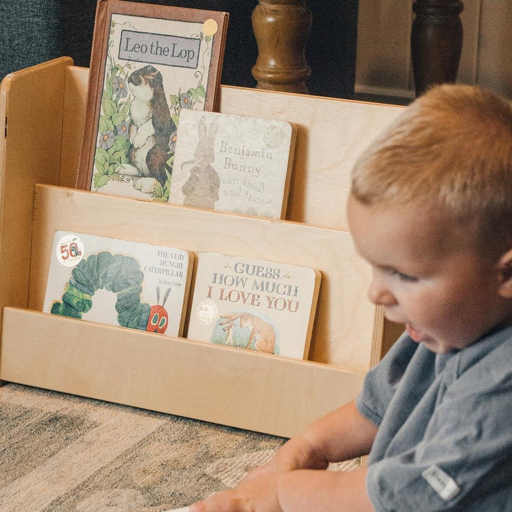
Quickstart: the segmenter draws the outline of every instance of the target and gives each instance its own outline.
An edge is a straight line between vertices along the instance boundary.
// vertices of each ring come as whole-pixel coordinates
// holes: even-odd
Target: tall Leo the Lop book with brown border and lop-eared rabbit
[[[77,188],[167,201],[180,111],[216,108],[227,22],[99,0]]]

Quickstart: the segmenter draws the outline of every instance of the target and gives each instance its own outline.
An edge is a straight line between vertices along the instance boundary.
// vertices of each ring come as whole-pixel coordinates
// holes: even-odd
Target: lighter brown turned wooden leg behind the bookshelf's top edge
[[[252,12],[258,59],[252,76],[258,89],[307,93],[311,75],[304,50],[312,14],[305,0],[259,0]]]

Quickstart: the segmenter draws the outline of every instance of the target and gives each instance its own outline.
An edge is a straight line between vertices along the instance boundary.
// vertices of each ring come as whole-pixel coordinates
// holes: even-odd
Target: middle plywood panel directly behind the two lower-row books
[[[28,303],[33,310],[42,309],[57,230],[318,269],[322,283],[310,359],[366,371],[371,345],[380,344],[379,338],[372,342],[373,333],[381,332],[366,297],[370,269],[345,231],[37,185]]]

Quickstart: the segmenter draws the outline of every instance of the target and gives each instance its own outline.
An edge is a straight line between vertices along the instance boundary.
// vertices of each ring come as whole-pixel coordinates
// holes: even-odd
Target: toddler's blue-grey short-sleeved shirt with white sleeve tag
[[[356,404],[377,512],[512,512],[512,327],[447,354],[403,334]]]

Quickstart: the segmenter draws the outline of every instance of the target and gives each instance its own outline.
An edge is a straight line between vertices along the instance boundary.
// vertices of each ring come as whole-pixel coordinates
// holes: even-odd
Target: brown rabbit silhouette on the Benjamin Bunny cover
[[[214,118],[209,130],[206,130],[206,121],[204,116],[201,116],[197,129],[199,141],[194,159],[181,164],[181,168],[186,164],[192,165],[190,176],[181,187],[185,196],[183,204],[186,206],[213,209],[215,202],[219,200],[220,178],[211,166],[215,160],[214,141],[218,127],[219,121]]]

